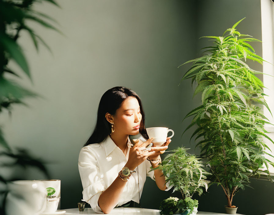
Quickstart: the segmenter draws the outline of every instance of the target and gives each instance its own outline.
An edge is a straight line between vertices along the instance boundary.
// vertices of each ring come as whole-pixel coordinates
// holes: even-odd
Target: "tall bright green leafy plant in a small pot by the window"
[[[235,193],[249,186],[251,176],[267,174],[273,182],[268,165],[274,166],[274,163],[264,154],[273,155],[265,151],[269,147],[262,139],[263,136],[274,143],[264,129],[265,123],[271,123],[267,122],[261,108],[253,104],[258,102],[270,111],[264,99],[264,85],[254,75],[263,73],[245,63],[246,59],[260,64],[265,60],[248,43],[261,41],[236,31],[235,27],[242,20],[224,31],[223,36],[204,36],[213,38],[215,46],[203,48],[209,49],[210,54],[185,62],[193,64],[181,79],[182,82],[192,78],[192,84],[194,80],[197,82],[193,97],[202,92],[202,105],[184,117],[194,116],[185,131],[198,126],[191,138],[194,135],[197,135],[195,140],[203,137],[196,147],[201,148],[200,156],[212,173],[210,184],[221,185],[229,207]],[[263,164],[266,170],[261,169]]]

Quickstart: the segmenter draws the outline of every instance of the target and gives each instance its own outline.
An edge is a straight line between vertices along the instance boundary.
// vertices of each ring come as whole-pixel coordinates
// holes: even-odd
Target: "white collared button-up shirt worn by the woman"
[[[132,144],[128,138],[128,150],[126,156],[123,151],[113,142],[108,135],[101,143],[89,144],[81,149],[78,160],[79,173],[83,185],[83,201],[89,203],[96,213],[103,213],[98,206],[99,196],[106,188],[108,188],[118,176],[118,173],[128,161],[129,149]],[[136,173],[132,173],[129,177],[118,204],[120,206],[126,202],[134,201],[139,203],[138,191],[138,175],[140,197],[146,177],[149,176],[154,181],[154,170],[150,170],[150,161],[145,160],[135,169]],[[166,184],[168,191],[173,187]]]

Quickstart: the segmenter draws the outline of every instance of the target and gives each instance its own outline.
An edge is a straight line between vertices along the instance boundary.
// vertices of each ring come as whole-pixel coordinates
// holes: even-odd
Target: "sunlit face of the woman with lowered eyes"
[[[121,107],[116,110],[114,121],[114,132],[136,135],[139,133],[139,126],[142,119],[139,102],[135,97],[128,97]]]

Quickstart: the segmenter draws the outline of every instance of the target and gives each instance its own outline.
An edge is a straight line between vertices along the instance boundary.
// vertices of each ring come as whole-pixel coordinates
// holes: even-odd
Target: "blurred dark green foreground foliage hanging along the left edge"
[[[20,86],[15,81],[16,78],[20,78],[20,75],[18,75],[17,71],[9,68],[8,65],[10,60],[14,60],[32,82],[28,63],[20,45],[17,43],[20,32],[27,31],[29,33],[37,51],[39,42],[49,50],[50,48],[46,42],[26,24],[27,21],[34,21],[44,27],[60,32],[47,21],[51,20],[56,22],[54,19],[32,9],[33,4],[43,1],[59,6],[54,0],[0,0],[0,113],[2,113],[3,110],[7,110],[9,115],[11,115],[11,106],[13,104],[23,104],[27,106],[27,104],[23,102],[25,97],[42,97]],[[7,78],[7,75],[13,76],[14,78]],[[34,166],[40,169],[46,177],[50,176],[44,166],[45,162],[43,160],[33,157],[25,149],[12,149],[4,137],[1,127],[0,156],[1,158],[8,157],[9,160],[10,158],[13,160],[9,163],[2,162],[0,168],[7,166],[20,166],[22,168]],[[2,171],[0,169],[0,195],[3,195],[0,198],[3,200],[3,202],[0,202],[0,214],[5,214],[5,199],[8,193],[7,186],[2,185],[6,185],[9,181],[20,179],[21,178],[5,178],[3,176],[3,169]]]

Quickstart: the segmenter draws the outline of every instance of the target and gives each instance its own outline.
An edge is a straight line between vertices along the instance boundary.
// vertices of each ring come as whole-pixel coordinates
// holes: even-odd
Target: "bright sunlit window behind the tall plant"
[[[263,62],[263,73],[268,75],[263,75],[263,83],[265,87],[264,93],[268,96],[265,96],[265,100],[271,110],[272,115],[274,116],[274,2],[272,0],[261,0],[261,23],[262,23],[262,58],[267,60],[271,64],[267,62]],[[269,76],[272,75],[272,76]],[[269,122],[274,124],[274,120],[269,113],[268,109],[264,106],[264,115],[269,119]],[[274,126],[265,125],[265,129],[268,132],[266,133],[268,137],[270,137],[274,141]],[[268,153],[274,156],[274,144],[263,137],[265,143],[269,146],[272,152],[267,150]],[[265,158],[274,162],[274,158],[265,155]],[[274,175],[274,167],[269,166],[269,171]]]

